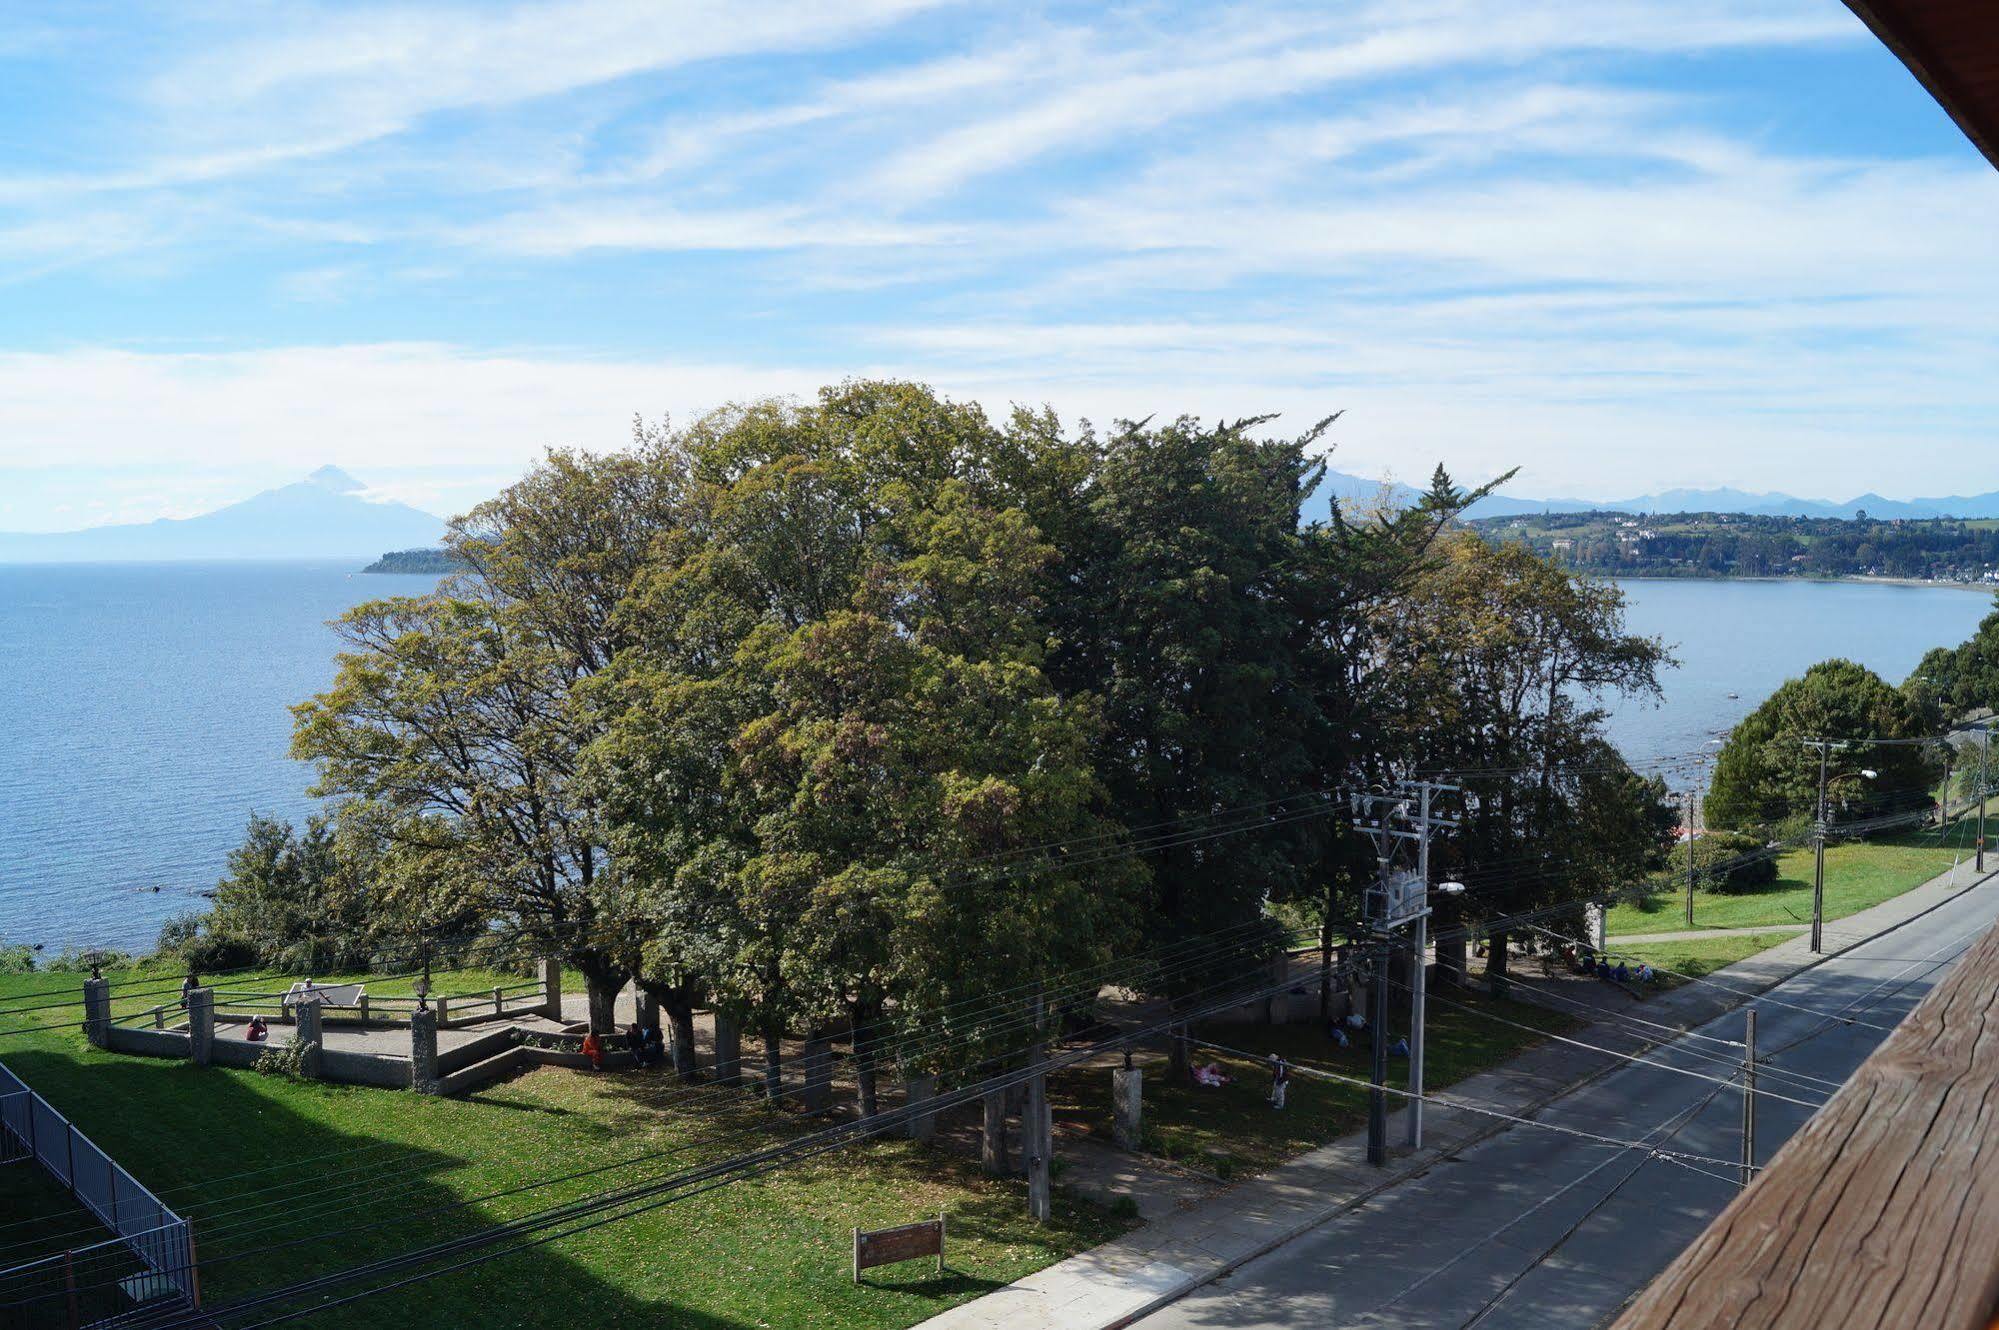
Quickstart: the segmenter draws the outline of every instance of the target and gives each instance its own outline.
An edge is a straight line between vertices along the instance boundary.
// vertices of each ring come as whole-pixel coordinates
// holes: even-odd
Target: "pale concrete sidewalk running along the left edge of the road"
[[[1927,914],[1985,880],[1989,878],[1953,884],[1951,874],[1943,874],[1861,914],[1837,920],[1837,928],[1825,930],[1825,942],[1829,948],[1853,946]],[[1633,1000],[1633,1006],[1643,1006],[1647,1020],[1695,1026],[1821,960],[1821,956],[1811,954],[1807,938],[1791,938],[1711,976],[1739,992],[1723,992],[1715,984],[1685,984],[1643,1004]],[[1637,1038],[1617,1022],[1585,1026],[1575,1038],[1619,1052],[1641,1052],[1659,1042]],[[1441,1094],[1527,1116],[1615,1066],[1625,1064],[1573,1044],[1543,1042],[1505,1066],[1467,1076]],[[1395,1108],[1397,1112],[1389,1120],[1389,1140],[1399,1142],[1405,1112],[1399,1110],[1399,1104]],[[1507,1128],[1501,1118],[1441,1104],[1425,1106],[1423,1124],[1425,1148],[1413,1154],[1395,1154],[1387,1168],[1367,1166],[1365,1132],[1343,1136],[1211,1200],[1177,1210],[1123,1238],[934,1316],[922,1322],[920,1330],[1113,1330],[1125,1326],[1335,1214],[1351,1210],[1375,1192],[1413,1178],[1439,1158]]]

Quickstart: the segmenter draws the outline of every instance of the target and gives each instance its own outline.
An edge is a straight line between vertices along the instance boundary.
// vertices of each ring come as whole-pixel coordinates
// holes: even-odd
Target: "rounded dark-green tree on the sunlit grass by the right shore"
[[[1933,732],[1925,708],[1873,670],[1823,660],[1781,684],[1729,734],[1707,788],[1707,822],[1767,830],[1817,816],[1819,752],[1805,740],[1853,744],[1827,760],[1827,808],[1835,818],[1921,808],[1943,774],[1935,746],[1867,740]]]

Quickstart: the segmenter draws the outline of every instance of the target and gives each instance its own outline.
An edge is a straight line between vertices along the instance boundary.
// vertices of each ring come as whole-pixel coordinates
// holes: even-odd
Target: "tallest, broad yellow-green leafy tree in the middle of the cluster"
[[[770,1058],[852,1022],[872,1096],[890,1024],[950,1004],[964,1046],[966,998],[1115,936],[1117,870],[980,868],[1105,830],[1095,708],[1041,672],[1053,552],[1023,508],[1055,508],[1065,454],[910,384],[720,412],[676,446],[692,518],[620,614],[592,784],[678,924],[648,964],[708,972]]]

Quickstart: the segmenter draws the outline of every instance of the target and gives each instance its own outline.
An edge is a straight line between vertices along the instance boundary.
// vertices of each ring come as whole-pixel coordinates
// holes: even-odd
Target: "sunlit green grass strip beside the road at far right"
[[[1947,834],[1935,830],[1895,832],[1875,840],[1853,840],[1825,848],[1825,918],[1859,914],[1883,900],[1949,872],[1955,860],[1967,860],[1975,832],[1969,822],[1957,822]],[[1777,860],[1777,880],[1745,892],[1693,894],[1695,928],[1753,928],[1759,924],[1811,922],[1811,848],[1789,850]],[[1971,868],[1963,868],[1965,874]],[[1969,878],[1967,878],[1969,880]],[[1685,896],[1659,892],[1639,902],[1611,908],[1609,936],[1629,932],[1675,932],[1687,926]],[[1771,936],[1765,946],[1775,946]]]

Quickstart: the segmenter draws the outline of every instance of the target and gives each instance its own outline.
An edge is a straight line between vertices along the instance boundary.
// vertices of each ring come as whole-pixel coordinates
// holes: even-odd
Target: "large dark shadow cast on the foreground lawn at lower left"
[[[476,1150],[478,1140],[454,1130],[462,1122],[454,1120],[458,1114],[450,1102],[56,1050],[10,1052],[6,1064],[134,1178],[192,1220],[204,1306],[216,1314],[240,1298],[460,1238],[558,1200],[516,1196],[504,1212],[462,1204],[460,1190],[442,1174],[474,1160],[440,1146],[452,1142]],[[432,1142],[370,1136],[326,1120],[350,1110],[344,1116],[354,1126],[366,1126],[370,1106],[394,1110],[406,1130],[412,1118],[418,1130],[428,1118]],[[548,1172],[564,1172],[560,1164],[556,1160]],[[488,1188],[466,1188],[468,1194],[482,1190]],[[450,1260],[418,1270],[444,1264]],[[340,1284],[330,1296],[412,1272]],[[94,1292],[118,1298],[110,1282]],[[260,1316],[306,1306],[308,1300],[280,1302],[260,1308]],[[62,1324],[60,1308],[48,1324]],[[754,1316],[724,1320],[670,1300],[634,1298],[556,1248],[512,1252],[340,1310],[340,1324],[348,1330],[406,1330],[410,1324],[556,1328],[582,1320],[688,1330],[756,1324]]]

